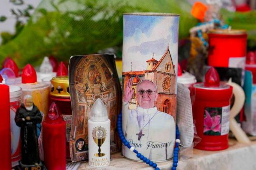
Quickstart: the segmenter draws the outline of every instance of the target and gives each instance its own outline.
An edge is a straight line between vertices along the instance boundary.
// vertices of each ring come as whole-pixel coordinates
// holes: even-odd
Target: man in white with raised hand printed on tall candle
[[[122,130],[126,140],[139,153],[152,161],[163,161],[173,157],[175,122],[173,116],[157,110],[157,86],[143,79],[131,89],[132,80],[125,85],[122,103]],[[137,108],[129,109],[129,102],[135,92]],[[126,146],[122,146],[125,157],[141,161]]]

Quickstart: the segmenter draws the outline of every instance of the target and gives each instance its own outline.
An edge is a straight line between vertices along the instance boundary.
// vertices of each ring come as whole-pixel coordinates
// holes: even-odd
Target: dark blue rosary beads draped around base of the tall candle
[[[147,157],[144,157],[141,153],[139,153],[137,150],[135,150],[134,147],[130,146],[129,142],[125,139],[124,134],[122,132],[122,114],[118,115],[117,118],[117,132],[118,135],[120,137],[120,140],[122,141],[122,143],[127,146],[132,152],[136,153],[137,158],[141,159],[143,162],[145,162],[146,164],[149,164],[149,166],[152,166],[152,168],[154,168],[155,170],[160,170],[160,168],[157,167],[157,164],[150,161],[150,159],[148,159]],[[177,142],[177,138],[179,137],[179,129],[178,126],[176,126],[176,145],[174,148],[174,152],[173,152],[173,167],[171,168],[171,170],[176,170],[176,167],[178,166],[178,155],[179,155],[179,142]],[[175,161],[174,161],[175,160]]]

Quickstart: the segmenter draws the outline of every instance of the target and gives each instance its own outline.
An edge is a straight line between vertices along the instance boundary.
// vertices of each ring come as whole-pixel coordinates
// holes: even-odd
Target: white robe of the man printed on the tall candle
[[[122,104],[122,130],[126,140],[139,153],[151,161],[163,161],[173,157],[175,122],[173,116],[158,111],[156,107],[128,109],[129,103]],[[140,129],[144,136],[138,140]],[[141,161],[127,146],[122,145],[122,154]]]

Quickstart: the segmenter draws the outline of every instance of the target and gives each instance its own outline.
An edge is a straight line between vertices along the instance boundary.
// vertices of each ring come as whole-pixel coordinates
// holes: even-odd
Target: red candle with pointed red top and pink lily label
[[[230,98],[232,87],[220,83],[215,68],[205,74],[204,83],[192,86],[193,118],[202,139],[195,148],[224,150],[228,148]]]

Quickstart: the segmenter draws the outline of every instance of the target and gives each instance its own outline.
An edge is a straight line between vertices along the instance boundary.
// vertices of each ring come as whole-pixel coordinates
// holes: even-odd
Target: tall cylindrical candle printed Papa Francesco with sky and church
[[[152,161],[173,157],[177,98],[179,15],[123,15],[122,129]],[[125,157],[141,161],[122,145]]]

